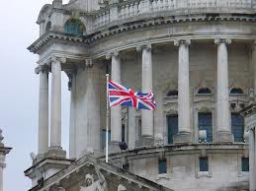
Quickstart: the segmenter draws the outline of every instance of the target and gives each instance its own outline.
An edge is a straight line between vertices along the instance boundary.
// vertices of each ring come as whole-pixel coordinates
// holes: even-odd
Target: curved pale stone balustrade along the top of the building
[[[204,13],[254,14],[256,0],[126,0],[99,10],[94,30],[113,22],[125,23],[137,16],[149,18]]]

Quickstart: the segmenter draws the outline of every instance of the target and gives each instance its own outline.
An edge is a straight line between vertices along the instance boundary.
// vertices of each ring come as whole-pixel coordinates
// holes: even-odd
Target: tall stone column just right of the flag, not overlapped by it
[[[175,143],[189,143],[192,141],[190,124],[190,70],[189,45],[190,39],[175,40],[174,45],[179,47],[178,72],[178,121],[179,132],[174,137]]]

